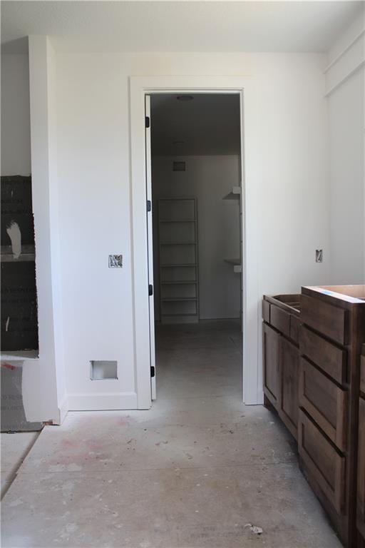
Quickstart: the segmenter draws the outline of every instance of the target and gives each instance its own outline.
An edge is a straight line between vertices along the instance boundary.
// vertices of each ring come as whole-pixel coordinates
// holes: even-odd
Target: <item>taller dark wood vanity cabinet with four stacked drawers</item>
[[[302,288],[299,337],[299,465],[349,548],[359,547],[356,477],[364,290]]]

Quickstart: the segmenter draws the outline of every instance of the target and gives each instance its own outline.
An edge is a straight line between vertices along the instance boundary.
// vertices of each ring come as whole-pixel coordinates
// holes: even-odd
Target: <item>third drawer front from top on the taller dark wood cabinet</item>
[[[299,405],[339,450],[346,449],[347,392],[303,358],[300,360]]]

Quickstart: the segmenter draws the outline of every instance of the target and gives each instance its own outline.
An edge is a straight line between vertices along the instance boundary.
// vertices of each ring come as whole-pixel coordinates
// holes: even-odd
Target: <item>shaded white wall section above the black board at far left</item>
[[[29,56],[1,54],[1,175],[30,173]]]

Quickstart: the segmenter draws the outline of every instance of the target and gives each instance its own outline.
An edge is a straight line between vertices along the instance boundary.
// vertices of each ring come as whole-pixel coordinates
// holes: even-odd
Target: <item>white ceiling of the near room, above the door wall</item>
[[[327,51],[363,1],[1,1],[4,51]]]

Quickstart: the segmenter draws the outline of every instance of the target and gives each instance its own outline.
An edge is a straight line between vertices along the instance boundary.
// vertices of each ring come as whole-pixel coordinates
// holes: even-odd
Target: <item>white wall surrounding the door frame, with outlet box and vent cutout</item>
[[[250,245],[257,250],[259,310],[262,293],[329,281],[324,64],[317,54],[57,54],[63,331],[71,408],[90,406],[91,400],[135,405],[128,397],[135,392],[128,76],[255,77],[262,159],[255,192],[261,210],[257,240]],[[322,264],[314,262],[317,248],[324,248]],[[108,253],[123,253],[122,270],[108,269]],[[118,381],[88,379],[89,360],[98,359],[118,360]]]

